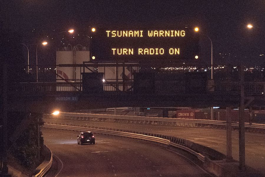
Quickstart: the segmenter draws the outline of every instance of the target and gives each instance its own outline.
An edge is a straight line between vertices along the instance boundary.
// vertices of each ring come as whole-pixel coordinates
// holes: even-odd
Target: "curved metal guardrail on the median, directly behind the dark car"
[[[122,136],[122,137],[130,137],[130,138],[136,138],[136,139],[158,142],[161,144],[171,145],[173,147],[185,150],[185,151],[195,155],[202,162],[205,162],[205,156],[204,155],[197,153],[196,151],[194,151],[188,147],[185,147],[183,145],[179,145],[175,142],[171,142],[168,139],[151,136],[150,133],[148,133],[148,135],[143,135],[143,134],[131,133],[131,132],[120,132],[117,130],[95,129],[95,128],[87,128],[87,127],[76,127],[76,126],[54,125],[54,124],[44,124],[42,127],[56,128],[56,129],[61,129],[61,130],[75,130],[75,131],[84,131],[84,130],[88,131],[89,130],[89,131],[93,131],[94,133],[100,133],[100,134],[106,134],[106,135],[115,135],[115,136]],[[170,139],[172,139],[172,137],[170,137]]]

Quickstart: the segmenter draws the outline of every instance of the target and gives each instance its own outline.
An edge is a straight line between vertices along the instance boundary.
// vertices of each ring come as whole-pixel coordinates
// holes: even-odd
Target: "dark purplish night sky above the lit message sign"
[[[200,27],[201,33],[213,42],[215,63],[264,64],[265,1],[1,1],[2,43],[33,44],[53,38],[53,45],[39,49],[40,64],[53,64],[55,51],[61,47],[59,32],[75,29],[75,34],[90,32],[91,27],[125,29],[135,27],[169,28]],[[246,24],[253,24],[249,30]],[[58,35],[59,34],[59,35]],[[67,43],[71,43],[69,35]],[[202,37],[206,59],[210,57],[210,42]],[[15,41],[15,42],[14,42]],[[76,42],[76,41],[72,41]],[[66,43],[66,42],[65,42]],[[66,45],[66,44],[65,44]],[[23,47],[21,47],[23,49]],[[30,63],[34,62],[34,46]],[[21,53],[26,57],[26,50]],[[51,54],[52,53],[52,54]],[[222,60],[220,53],[237,57]],[[25,61],[26,62],[26,61]],[[24,64],[25,64],[24,62]],[[206,62],[207,63],[207,62]],[[208,62],[209,64],[209,62]]]

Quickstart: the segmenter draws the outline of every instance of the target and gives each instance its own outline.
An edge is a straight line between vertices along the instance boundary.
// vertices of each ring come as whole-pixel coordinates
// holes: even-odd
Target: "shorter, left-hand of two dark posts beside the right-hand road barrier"
[[[226,107],[226,158],[232,160],[231,107]]]

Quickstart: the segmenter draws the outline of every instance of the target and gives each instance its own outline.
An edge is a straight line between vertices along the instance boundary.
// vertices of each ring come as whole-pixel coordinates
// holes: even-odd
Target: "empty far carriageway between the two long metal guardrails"
[[[226,154],[226,130],[207,129],[192,127],[167,127],[158,125],[122,124],[112,122],[80,121],[65,119],[48,119],[44,122],[77,124],[94,127],[108,127],[121,130],[134,130],[139,132],[150,132],[184,138],[198,144],[210,147],[223,154]],[[245,133],[246,165],[256,169],[265,176],[265,135],[260,133]],[[232,131],[232,156],[239,160],[238,153],[238,132]]]

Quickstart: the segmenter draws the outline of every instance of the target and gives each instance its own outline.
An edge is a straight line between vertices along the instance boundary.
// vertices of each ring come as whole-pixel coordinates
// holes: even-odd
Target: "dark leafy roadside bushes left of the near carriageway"
[[[45,158],[43,152],[43,137],[39,131],[40,143],[40,158],[38,158],[38,124],[42,125],[42,114],[22,115],[15,113],[14,116],[28,117],[30,124],[24,131],[21,131],[17,136],[16,141],[11,145],[8,151],[8,164],[16,170],[25,174],[34,173],[35,169],[42,163]],[[20,117],[20,119],[22,119]],[[13,117],[14,118],[14,117]],[[18,118],[18,117],[17,117]],[[39,123],[38,123],[39,118]],[[16,125],[16,126],[19,126]],[[23,129],[24,127],[21,127]]]

